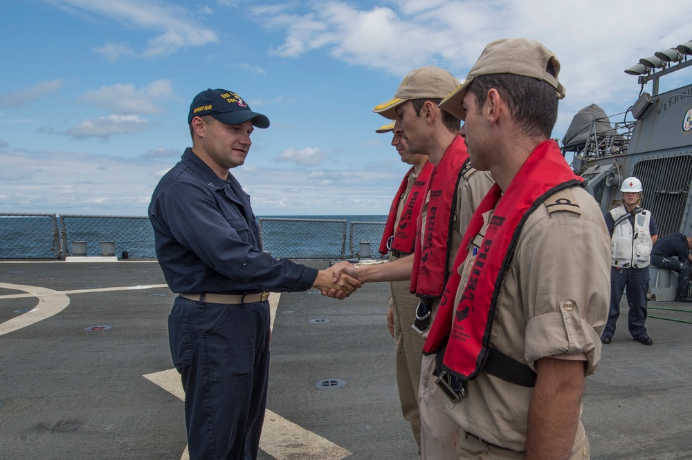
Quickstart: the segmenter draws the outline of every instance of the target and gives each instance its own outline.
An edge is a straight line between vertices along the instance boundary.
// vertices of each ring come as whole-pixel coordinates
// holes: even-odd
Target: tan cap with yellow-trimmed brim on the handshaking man
[[[372,109],[385,118],[397,118],[397,106],[410,99],[444,99],[457,86],[459,80],[447,70],[435,66],[419,67],[411,70],[399,85],[397,93],[387,102]]]

